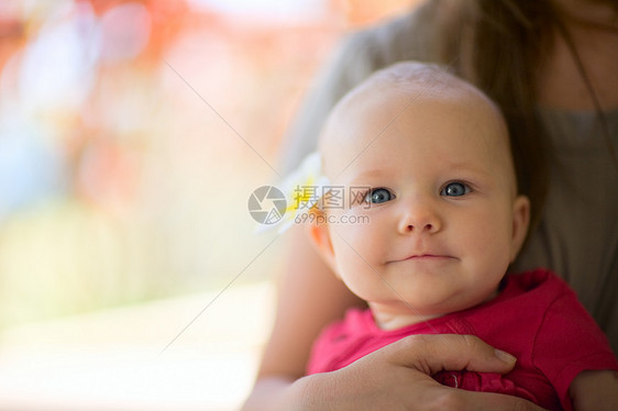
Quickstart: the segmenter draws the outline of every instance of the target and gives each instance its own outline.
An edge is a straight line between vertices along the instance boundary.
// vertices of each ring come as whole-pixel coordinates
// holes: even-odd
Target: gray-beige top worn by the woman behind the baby
[[[324,66],[291,129],[282,164],[294,169],[316,149],[336,101],[373,71],[400,60],[437,62],[434,10],[424,7],[349,36]],[[550,191],[517,270],[548,267],[565,278],[618,353],[618,165],[594,113],[539,108],[553,145]],[[606,113],[618,152],[618,110]]]

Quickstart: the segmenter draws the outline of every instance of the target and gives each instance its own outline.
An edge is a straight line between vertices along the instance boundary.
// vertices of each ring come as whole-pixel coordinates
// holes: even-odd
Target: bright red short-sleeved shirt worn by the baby
[[[500,293],[484,304],[380,330],[369,310],[350,310],[313,345],[308,374],[332,371],[411,334],[472,334],[517,357],[507,375],[442,371],[441,384],[528,399],[549,410],[572,410],[569,386],[583,370],[615,369],[607,338],[575,293],[554,274],[538,269],[505,277]]]

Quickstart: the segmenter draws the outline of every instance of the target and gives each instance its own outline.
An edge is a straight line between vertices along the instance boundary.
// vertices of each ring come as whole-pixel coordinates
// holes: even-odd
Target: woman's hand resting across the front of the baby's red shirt
[[[268,409],[286,411],[542,410],[516,397],[444,387],[430,377],[464,368],[504,374],[515,362],[475,336],[413,335],[333,373],[304,377],[291,385],[271,381],[271,388],[276,388],[260,397],[271,398]],[[269,384],[263,382],[264,388]],[[261,408],[245,408],[252,409]]]

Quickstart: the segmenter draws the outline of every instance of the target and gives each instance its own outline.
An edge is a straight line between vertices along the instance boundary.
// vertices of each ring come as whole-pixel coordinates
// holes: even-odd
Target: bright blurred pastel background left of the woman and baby
[[[0,2],[0,410],[234,410],[285,238],[251,192],[389,0]]]

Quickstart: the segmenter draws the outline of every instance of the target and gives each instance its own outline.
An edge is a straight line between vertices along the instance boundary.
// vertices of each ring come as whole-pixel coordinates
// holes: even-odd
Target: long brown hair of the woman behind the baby
[[[560,14],[549,0],[438,0],[435,27],[442,63],[476,85],[500,107],[511,136],[518,189],[530,198],[531,227],[540,220],[549,188],[550,142],[538,115],[543,58],[555,35],[566,42],[586,85],[617,166],[605,114]],[[610,3],[610,2],[609,2]],[[461,8],[461,9],[460,9]]]

